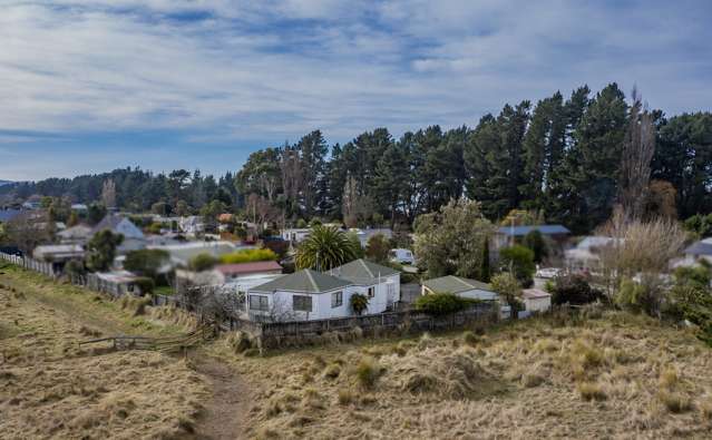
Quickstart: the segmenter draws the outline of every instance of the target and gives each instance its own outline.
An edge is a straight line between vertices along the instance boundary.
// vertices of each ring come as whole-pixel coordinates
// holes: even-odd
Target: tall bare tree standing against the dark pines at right
[[[645,214],[645,198],[654,153],[653,116],[643,106],[637,90],[633,89],[633,106],[631,106],[628,128],[623,145],[618,196],[623,209],[633,219],[642,218]]]

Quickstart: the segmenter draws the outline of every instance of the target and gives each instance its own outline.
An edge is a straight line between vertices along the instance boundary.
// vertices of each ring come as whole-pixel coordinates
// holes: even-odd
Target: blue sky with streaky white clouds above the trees
[[[0,0],[0,179],[224,174],[584,84],[709,111],[710,22],[709,0]]]

